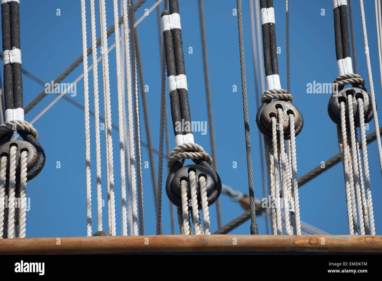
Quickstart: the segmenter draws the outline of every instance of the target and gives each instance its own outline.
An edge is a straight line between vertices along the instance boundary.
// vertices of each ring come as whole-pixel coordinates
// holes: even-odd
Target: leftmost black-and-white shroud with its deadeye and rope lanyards
[[[32,124],[24,120],[19,0],[2,0],[5,123],[0,125],[0,238],[26,234],[26,182],[45,164]],[[16,131],[23,140],[10,140]],[[5,196],[8,194],[8,202]],[[21,203],[21,206],[18,205]],[[8,208],[5,208],[5,203]]]

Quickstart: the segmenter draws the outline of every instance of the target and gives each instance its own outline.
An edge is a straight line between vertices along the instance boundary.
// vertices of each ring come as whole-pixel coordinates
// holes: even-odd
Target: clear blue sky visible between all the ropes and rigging
[[[96,1],[97,2],[97,1]],[[113,5],[106,1],[107,26],[113,25]],[[136,18],[150,8],[154,0],[148,0],[136,12]],[[202,49],[197,1],[180,2],[180,15],[183,34],[183,49],[188,81],[188,95],[191,119],[208,121]],[[91,44],[90,9],[87,4],[88,47]],[[358,1],[353,0],[354,33],[356,34],[356,58],[358,74],[367,82],[366,59],[361,29]],[[97,38],[99,32],[98,3],[96,3]],[[251,27],[249,1],[243,0],[244,48],[246,56],[246,78],[248,91],[249,125],[251,129],[253,177],[255,195],[262,198],[261,170],[259,159],[258,131],[256,118],[256,94],[254,84],[253,55],[251,47]],[[365,1],[365,15],[371,55],[371,66],[377,104],[381,100],[381,84],[376,40],[374,1]],[[60,9],[60,16],[56,10]],[[161,10],[163,5],[161,5]],[[238,46],[237,16],[232,14],[236,8],[233,0],[204,1],[210,87],[214,113],[217,161],[222,182],[235,190],[248,193],[246,168],[246,150],[243,126],[243,104],[241,97],[240,60]],[[276,18],[278,67],[281,85],[286,89],[286,52],[285,52],[285,1],[274,0]],[[325,15],[321,15],[325,9]],[[37,5],[32,1],[21,1],[21,50],[23,68],[45,82],[55,79],[82,53],[81,10],[79,1],[43,1]],[[159,146],[159,105],[160,105],[160,57],[156,10],[139,24],[139,40],[145,84],[149,85],[147,101],[149,123],[154,147]],[[112,45],[114,36],[108,37]],[[193,53],[189,54],[189,47]],[[351,46],[353,48],[353,46]],[[100,48],[98,48],[98,56]],[[89,57],[90,65],[91,57]],[[112,121],[118,123],[117,81],[115,73],[115,52],[109,54],[110,85],[112,95]],[[79,65],[63,82],[73,82],[82,73]],[[99,64],[100,71],[100,64]],[[262,70],[263,71],[263,70]],[[335,124],[327,114],[329,94],[307,94],[307,84],[313,81],[330,83],[338,76],[334,46],[332,2],[327,1],[291,1],[290,2],[290,79],[293,103],[304,116],[304,128],[296,138],[298,175],[302,176],[338,153]],[[99,72],[100,75],[100,72]],[[100,76],[99,76],[100,77]],[[100,79],[102,83],[102,79]],[[237,85],[237,92],[233,92]],[[26,106],[44,87],[32,79],[23,76],[24,106]],[[259,85],[257,85],[259,87]],[[77,95],[71,97],[82,103],[83,81],[77,84]],[[100,84],[102,89],[102,84]],[[92,73],[89,73],[90,107],[93,109]],[[168,93],[167,93],[168,95]],[[70,94],[68,94],[70,97]],[[36,107],[29,111],[25,120],[31,121],[53,99],[48,94]],[[101,100],[102,102],[102,100]],[[167,104],[170,112],[169,102]],[[100,106],[103,115],[103,106]],[[141,108],[141,113],[143,110]],[[380,113],[382,114],[382,113]],[[170,117],[170,116],[169,116]],[[143,114],[141,115],[141,137],[147,142]],[[171,124],[171,121],[169,119]],[[91,118],[91,168],[92,168],[92,225],[97,231],[97,208],[95,188],[95,137],[94,118]],[[27,213],[27,237],[65,237],[86,236],[86,179],[84,113],[65,100],[60,100],[39,121],[34,124],[39,132],[39,142],[47,155],[44,170],[37,178],[28,182],[27,196],[31,198],[31,209]],[[207,128],[208,130],[209,128]],[[371,133],[374,123],[370,123]],[[172,128],[170,147],[175,146]],[[195,142],[211,152],[209,134],[194,133]],[[101,131],[101,142],[104,134]],[[101,145],[103,198],[106,199],[105,147]],[[374,202],[376,232],[381,234],[382,200],[381,174],[378,164],[376,142],[368,147],[371,174],[371,190]],[[113,155],[115,178],[115,202],[117,214],[117,235],[121,235],[121,204],[118,131],[113,130]],[[57,168],[60,161],[60,169]],[[149,161],[148,150],[142,147],[142,162]],[[233,168],[233,161],[237,168]],[[191,161],[186,162],[191,164]],[[155,155],[157,169],[158,158]],[[165,174],[164,178],[166,178]],[[152,182],[149,169],[143,168],[144,215],[146,234],[155,234],[155,209],[152,194]],[[221,195],[223,224],[241,215],[244,210],[237,202]],[[299,189],[301,220],[323,229],[331,234],[348,234],[345,187],[342,165],[337,164]],[[217,229],[215,205],[210,207],[211,229]],[[107,230],[107,207],[104,207],[104,230]],[[171,234],[169,201],[163,194],[162,209],[163,233]],[[257,218],[259,234],[265,234],[264,219]],[[176,222],[177,224],[177,222]],[[178,227],[176,226],[176,230]],[[249,234],[249,221],[231,232]]]

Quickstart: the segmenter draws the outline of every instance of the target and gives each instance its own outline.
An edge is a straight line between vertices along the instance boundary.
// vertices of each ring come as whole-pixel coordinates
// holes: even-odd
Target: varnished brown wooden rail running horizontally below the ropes
[[[175,252],[382,253],[382,236],[158,235],[0,239],[0,254]]]

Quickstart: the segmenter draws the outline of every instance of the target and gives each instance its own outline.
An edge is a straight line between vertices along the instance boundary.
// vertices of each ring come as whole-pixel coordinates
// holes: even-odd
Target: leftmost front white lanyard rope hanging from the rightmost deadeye
[[[348,161],[348,145],[346,142],[346,123],[345,123],[345,103],[340,103],[341,107],[341,126],[338,128],[338,146],[342,153],[343,161],[343,174],[345,177],[345,194],[346,194],[346,206],[348,211],[348,226],[349,234],[354,235],[353,213],[351,205],[351,191],[350,191],[350,176],[349,176],[349,161]]]

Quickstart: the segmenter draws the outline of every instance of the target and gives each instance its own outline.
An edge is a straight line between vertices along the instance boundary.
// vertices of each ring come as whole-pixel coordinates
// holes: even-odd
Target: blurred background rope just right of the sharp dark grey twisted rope
[[[256,91],[256,107],[259,108],[259,90],[257,85],[259,84],[259,75],[258,75],[258,62],[257,62],[257,51],[256,51],[256,39],[255,39],[255,19],[254,19],[254,8],[253,8],[253,2],[252,0],[249,1],[249,10],[250,10],[250,15],[251,15],[251,37],[252,37],[252,52],[253,52],[253,68],[254,68],[254,76],[255,76],[255,91]],[[261,132],[258,131],[258,136],[259,136],[259,150],[260,150],[260,165],[261,165],[261,181],[262,181],[262,187],[263,187],[263,196],[267,197],[267,189],[266,189],[266,184],[265,184],[265,174],[264,174],[264,156],[263,156],[263,150],[261,147],[262,144],[262,138],[261,138]],[[215,158],[214,158],[215,159]],[[269,229],[268,229],[268,213],[265,213],[265,230],[266,233],[269,234]],[[220,228],[220,226],[219,226]]]

